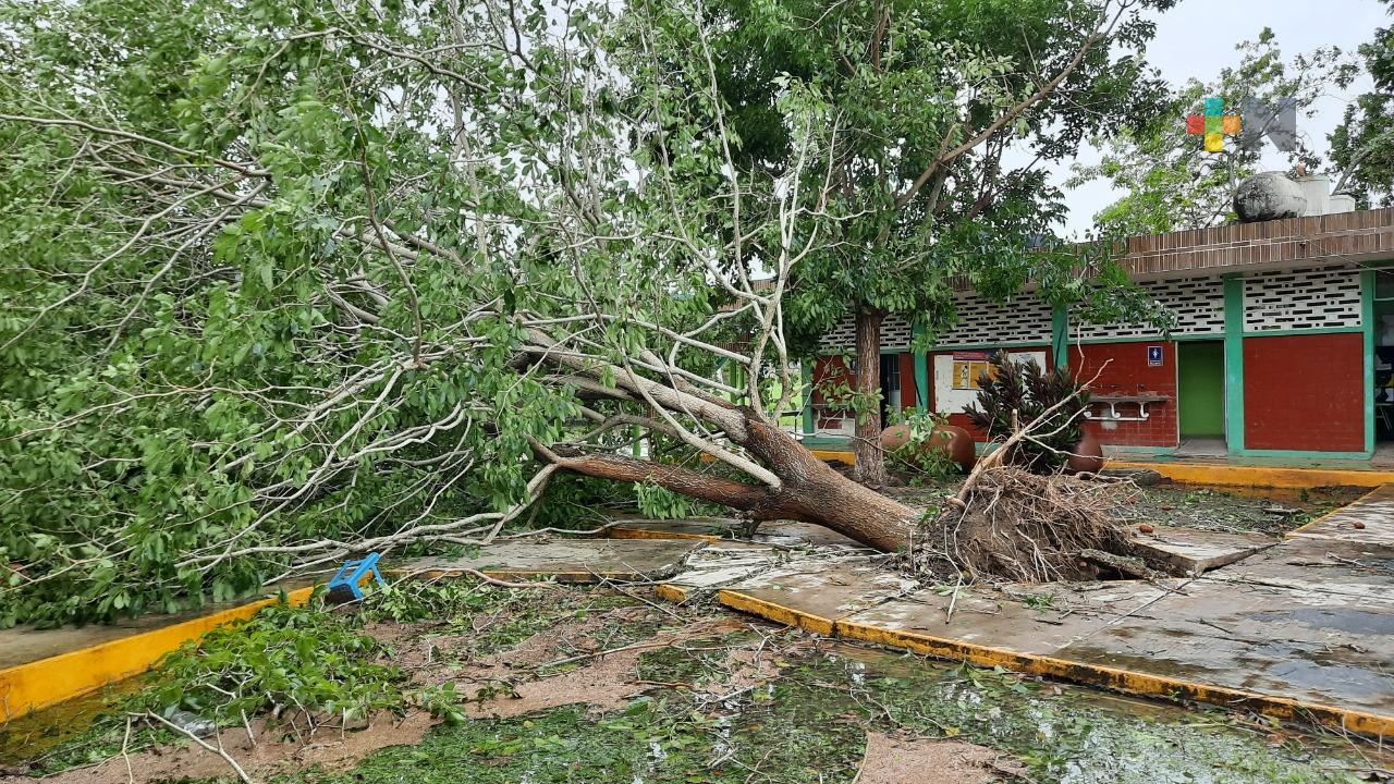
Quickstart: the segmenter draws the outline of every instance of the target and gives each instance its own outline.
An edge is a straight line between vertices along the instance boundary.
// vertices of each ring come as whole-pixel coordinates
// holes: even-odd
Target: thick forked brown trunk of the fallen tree
[[[779,477],[779,490],[615,453],[555,448],[544,458],[585,476],[651,481],[673,492],[740,509],[754,520],[815,523],[884,552],[909,545],[919,512],[839,474],[788,432],[742,410],[746,434],[740,445]]]

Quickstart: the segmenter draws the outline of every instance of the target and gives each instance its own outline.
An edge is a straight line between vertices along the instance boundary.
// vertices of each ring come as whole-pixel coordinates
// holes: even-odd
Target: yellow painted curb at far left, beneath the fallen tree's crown
[[[289,591],[286,600],[290,604],[304,604],[312,591],[314,587],[297,589]],[[185,642],[197,640],[217,626],[245,621],[262,607],[276,601],[279,600],[262,598],[118,640],[0,670],[0,721],[139,675]]]

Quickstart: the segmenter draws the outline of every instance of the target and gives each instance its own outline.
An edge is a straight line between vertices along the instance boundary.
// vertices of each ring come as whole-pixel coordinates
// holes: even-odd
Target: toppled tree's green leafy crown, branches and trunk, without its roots
[[[815,85],[746,172],[693,7],[118,6],[0,20],[0,625],[488,543],[562,473],[909,545],[778,424]]]

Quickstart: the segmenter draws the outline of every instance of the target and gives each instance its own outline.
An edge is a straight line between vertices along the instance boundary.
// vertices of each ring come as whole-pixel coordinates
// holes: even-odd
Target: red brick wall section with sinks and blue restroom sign
[[[1161,365],[1147,364],[1147,346],[1161,346]],[[1083,352],[1083,357],[1080,357]],[[1107,363],[1107,364],[1105,364]],[[1153,392],[1170,398],[1164,403],[1149,403],[1147,421],[1089,421],[1085,428],[1100,444],[1126,446],[1175,446],[1177,428],[1177,345],[1170,340],[1136,340],[1128,343],[1093,343],[1069,347],[1069,368],[1079,381],[1089,381],[1094,395],[1136,395]],[[1103,368],[1103,370],[1100,370]],[[1092,410],[1098,413],[1101,406]],[[1105,409],[1107,410],[1107,409]],[[1136,416],[1136,403],[1119,403],[1118,413]]]

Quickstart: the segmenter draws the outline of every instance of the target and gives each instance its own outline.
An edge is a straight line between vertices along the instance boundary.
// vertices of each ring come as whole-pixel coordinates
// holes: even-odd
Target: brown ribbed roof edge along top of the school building
[[[1170,278],[1381,258],[1394,258],[1394,208],[1129,237],[1122,264],[1133,278]]]

